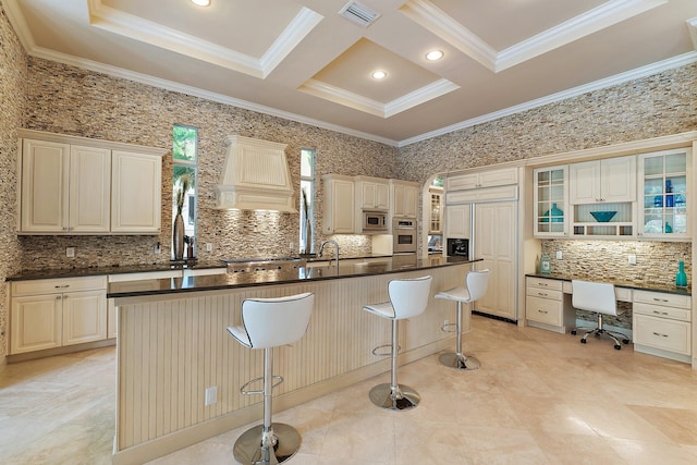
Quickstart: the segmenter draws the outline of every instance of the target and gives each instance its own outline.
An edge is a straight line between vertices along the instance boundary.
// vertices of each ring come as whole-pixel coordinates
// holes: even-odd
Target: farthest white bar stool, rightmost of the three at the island
[[[455,353],[449,352],[438,357],[438,360],[442,365],[461,370],[476,370],[481,366],[478,359],[475,357],[468,357],[462,353],[462,304],[465,303],[472,305],[475,301],[481,298],[487,293],[490,274],[490,270],[469,271],[465,279],[465,287],[453,287],[436,294],[436,298],[448,298],[450,301],[457,302],[457,319],[455,323],[457,342],[455,345]],[[442,330],[447,331],[444,325]]]

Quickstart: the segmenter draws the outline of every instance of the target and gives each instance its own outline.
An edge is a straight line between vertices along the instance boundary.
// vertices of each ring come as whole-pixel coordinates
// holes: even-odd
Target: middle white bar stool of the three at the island
[[[408,386],[396,382],[396,355],[399,347],[398,322],[406,318],[418,316],[426,310],[431,289],[431,277],[416,279],[392,280],[388,284],[390,302],[366,305],[364,310],[382,318],[392,320],[392,380],[378,384],[370,390],[370,401],[381,408],[391,411],[406,411],[414,408],[420,401],[420,395]],[[375,354],[376,351],[372,351]]]

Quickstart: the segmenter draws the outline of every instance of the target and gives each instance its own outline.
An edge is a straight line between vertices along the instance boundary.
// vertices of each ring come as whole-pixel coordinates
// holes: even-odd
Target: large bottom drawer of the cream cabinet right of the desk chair
[[[690,354],[690,325],[685,321],[634,314],[634,343],[677,354]]]

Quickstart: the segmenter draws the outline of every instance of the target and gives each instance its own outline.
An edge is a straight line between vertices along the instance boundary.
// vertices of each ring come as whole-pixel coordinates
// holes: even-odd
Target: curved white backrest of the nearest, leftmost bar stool
[[[301,339],[309,325],[315,294],[272,298],[247,298],[242,303],[242,323],[253,348],[269,348]]]

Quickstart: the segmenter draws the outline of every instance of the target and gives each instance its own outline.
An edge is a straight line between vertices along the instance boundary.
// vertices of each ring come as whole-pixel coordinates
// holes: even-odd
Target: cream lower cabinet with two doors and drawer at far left
[[[10,355],[107,339],[107,277],[15,281]]]

